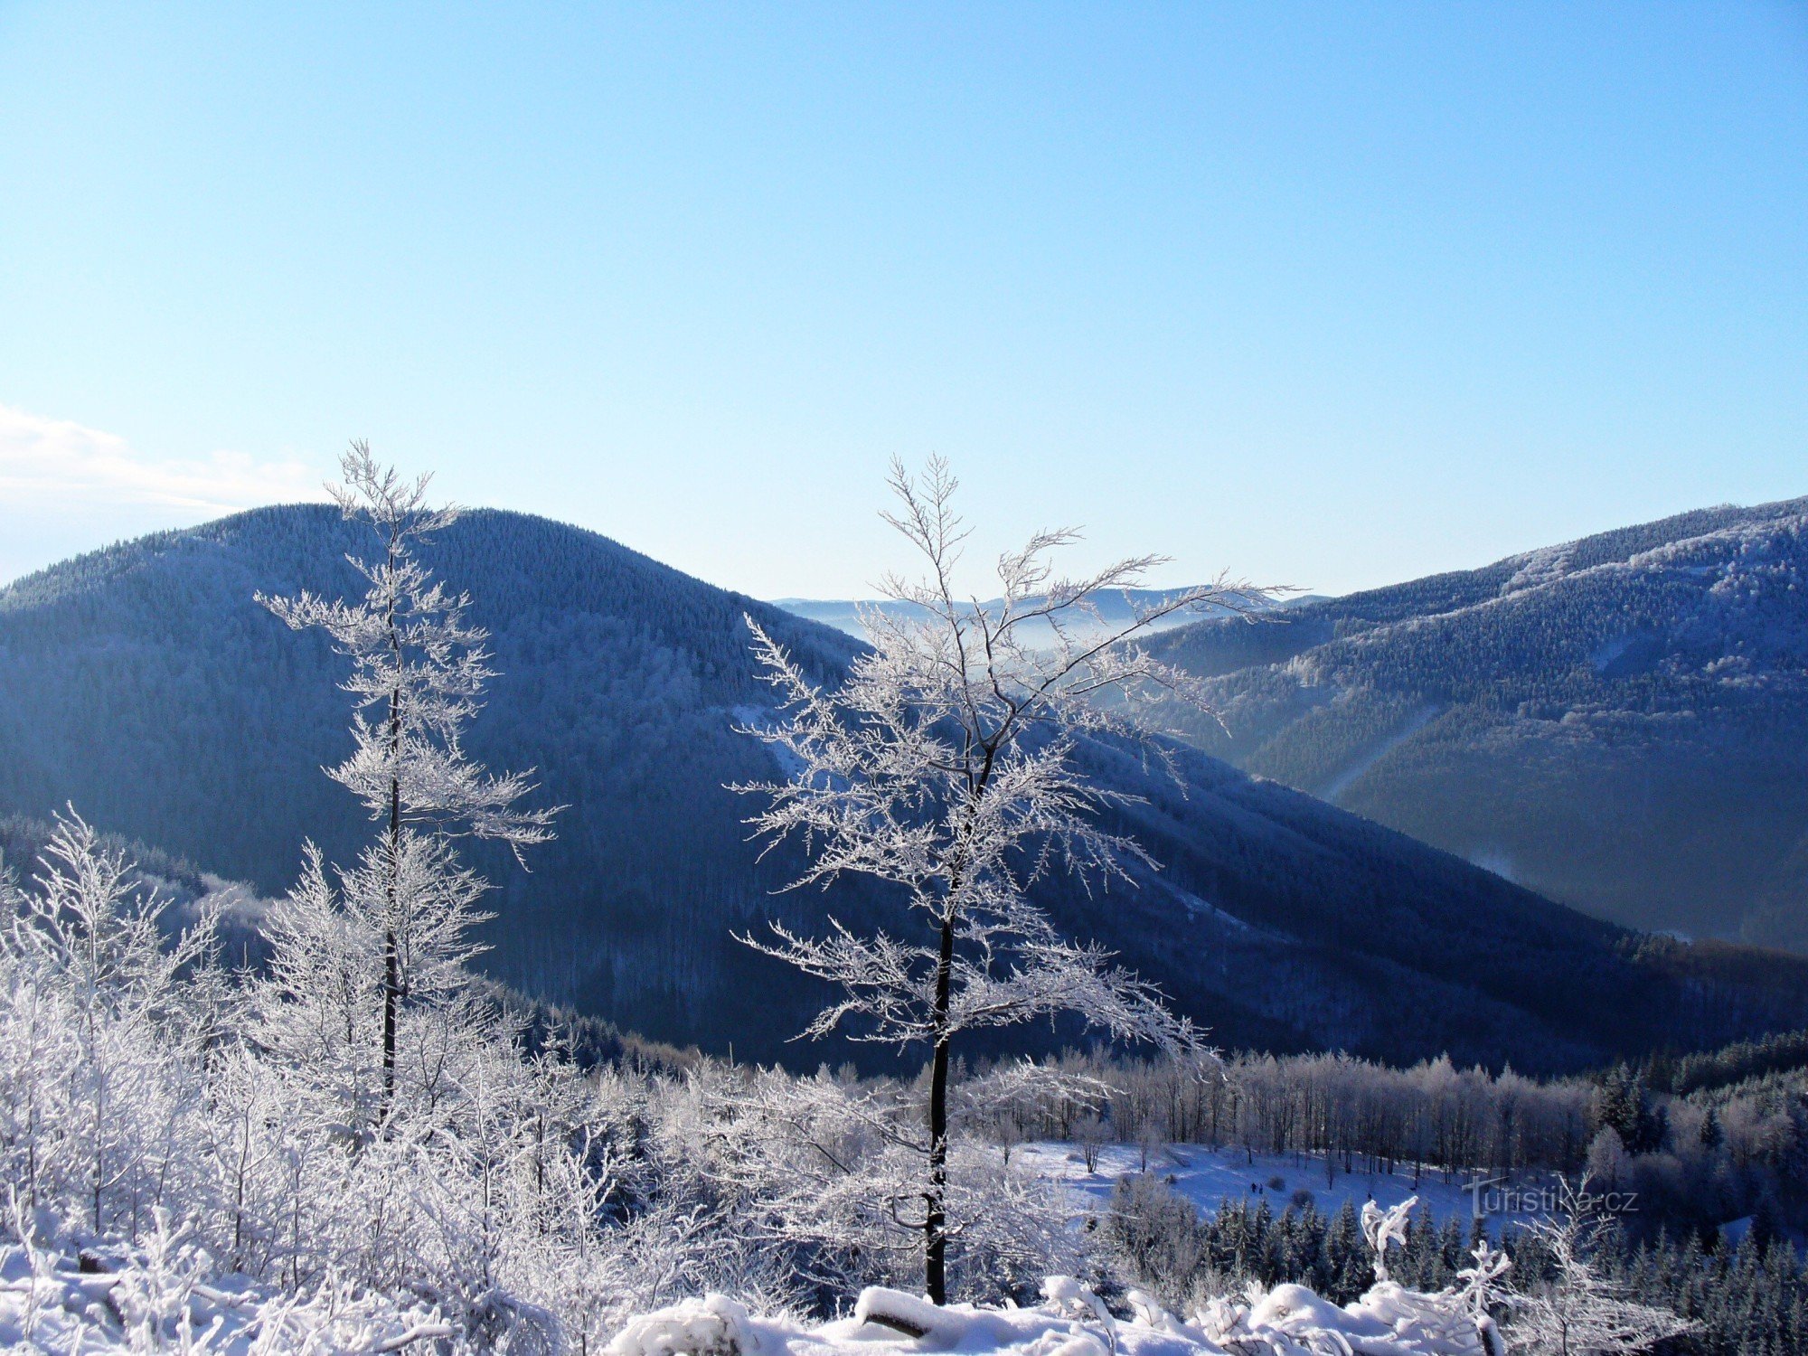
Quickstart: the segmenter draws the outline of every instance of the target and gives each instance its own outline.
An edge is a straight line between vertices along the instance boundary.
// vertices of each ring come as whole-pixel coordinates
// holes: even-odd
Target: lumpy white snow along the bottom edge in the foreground
[[[188,1356],[380,1356],[476,1351],[555,1356],[568,1347],[532,1311],[499,1313],[503,1340],[472,1342],[436,1313],[347,1293],[284,1298],[239,1284],[181,1278],[170,1258],[136,1258],[118,1273],[81,1271],[72,1257],[0,1249],[0,1343],[67,1356],[172,1351]],[[1186,1318],[1132,1291],[1132,1316],[1110,1314],[1085,1285],[1050,1276],[1032,1307],[938,1309],[899,1291],[868,1289],[848,1318],[803,1325],[756,1318],[720,1295],[633,1318],[607,1356],[1502,1356],[1492,1325],[1457,1295],[1419,1295],[1387,1282],[1351,1305],[1300,1285],[1215,1300]],[[523,1322],[524,1320],[524,1322]]]

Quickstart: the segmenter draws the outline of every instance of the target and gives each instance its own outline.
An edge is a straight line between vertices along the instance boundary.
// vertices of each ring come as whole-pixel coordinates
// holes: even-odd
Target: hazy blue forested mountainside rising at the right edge
[[[1553,899],[1808,951],[1808,499],[1710,508],[1154,647],[1190,736]]]

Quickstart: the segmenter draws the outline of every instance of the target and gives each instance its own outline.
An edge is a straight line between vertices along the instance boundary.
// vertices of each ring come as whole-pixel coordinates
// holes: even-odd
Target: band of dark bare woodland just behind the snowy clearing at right
[[[1779,1036],[1678,1063],[1676,1076],[1694,1083],[1689,1096],[1629,1065],[1533,1079],[1450,1059],[1396,1069],[1345,1054],[1240,1054],[1201,1079],[1164,1061],[1069,1052],[1047,1063],[1047,1083],[1000,1103],[987,1134],[1005,1144],[1228,1146],[1416,1182],[1593,1173],[1604,1188],[1638,1193],[1629,1226],[1640,1237],[1665,1228],[1714,1237],[1747,1217],[1808,1228],[1808,1074],[1783,1069],[1799,1041]],[[1732,1083],[1761,1049],[1779,1069]]]

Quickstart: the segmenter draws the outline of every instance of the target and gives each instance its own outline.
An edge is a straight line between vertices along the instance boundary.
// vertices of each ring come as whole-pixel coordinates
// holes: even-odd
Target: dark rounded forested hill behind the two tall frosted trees
[[[0,810],[72,801],[262,891],[291,880],[307,837],[349,859],[369,824],[320,774],[349,747],[344,662],[253,593],[356,593],[342,557],[362,532],[322,506],[259,510],[0,591]],[[768,700],[741,613],[824,678],[855,642],[544,519],[474,512],[430,562],[494,631],[501,678],[472,750],[537,767],[541,803],[568,806],[532,873],[483,859],[501,915],[485,964],[647,1036],[814,1065],[821,1047],[785,1043],[814,994],[730,928],[859,920],[875,900],[774,895],[792,861],[756,862],[745,841],[725,785],[772,767],[730,729]],[[1555,1069],[1808,1025],[1799,965],[1642,942],[1204,756],[1186,756],[1184,794],[1110,749],[1087,758],[1148,794],[1130,826],[1170,870],[1049,902],[1228,1045]]]

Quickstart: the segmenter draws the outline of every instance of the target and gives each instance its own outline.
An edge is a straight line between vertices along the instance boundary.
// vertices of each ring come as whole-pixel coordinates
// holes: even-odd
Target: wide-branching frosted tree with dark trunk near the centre
[[[1248,615],[1264,593],[1228,582],[1184,589],[1110,627],[1099,597],[1139,586],[1163,557],[1059,579],[1050,557],[1078,533],[1056,530],[1000,557],[1000,597],[982,604],[955,582],[969,530],[955,512],[947,465],[931,459],[918,481],[893,463],[891,488],[899,510],[886,519],[928,573],[884,580],[884,595],[906,606],[862,617],[871,649],[846,682],[814,685],[747,618],[763,676],[783,698],[776,721],[747,732],[774,745],[794,776],[741,790],[765,797],[750,821],[758,832],[808,850],[796,884],[877,877],[899,888],[906,913],[895,931],[857,935],[832,920],[826,937],[776,926],[772,937],[743,940],[839,989],[808,1034],[839,1029],[928,1047],[926,1181],[913,1224],[928,1293],[942,1302],[947,1085],[960,1032],[1078,1012],[1117,1038],[1204,1049],[1152,985],[1112,967],[1099,947],[1063,938],[1031,886],[1056,870],[1096,886],[1128,884],[1132,864],[1154,866],[1132,839],[1101,826],[1096,812],[1130,797],[1092,781],[1078,747],[1134,741],[1159,756],[1135,723],[1137,705],[1155,692],[1201,702],[1201,691],[1137,638],[1177,611]]]

